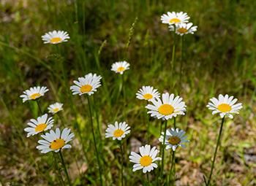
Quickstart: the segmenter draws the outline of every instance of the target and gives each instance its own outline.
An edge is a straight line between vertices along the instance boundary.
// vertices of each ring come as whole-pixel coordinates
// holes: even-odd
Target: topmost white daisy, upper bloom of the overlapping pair
[[[167,12],[161,16],[161,20],[162,23],[178,26],[180,23],[189,22],[189,16],[186,12]]]

